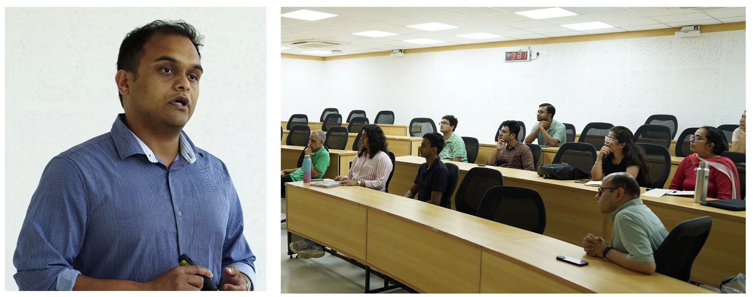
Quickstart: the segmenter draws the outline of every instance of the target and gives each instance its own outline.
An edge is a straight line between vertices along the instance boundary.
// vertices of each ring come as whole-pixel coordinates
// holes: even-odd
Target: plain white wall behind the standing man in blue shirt
[[[266,12],[264,8],[5,9],[5,288],[26,208],[47,162],[109,132],[122,113],[114,75],[120,41],[153,20],[185,20],[205,36],[200,104],[184,131],[222,159],[266,289]],[[261,125],[261,126],[260,126]],[[249,129],[255,127],[255,129]]]

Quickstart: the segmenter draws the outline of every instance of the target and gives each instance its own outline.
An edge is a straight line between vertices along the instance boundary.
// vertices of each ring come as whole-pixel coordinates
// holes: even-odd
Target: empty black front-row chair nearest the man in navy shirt
[[[502,173],[493,168],[474,167],[463,177],[455,194],[455,209],[475,216],[483,194],[492,186],[502,185]]]

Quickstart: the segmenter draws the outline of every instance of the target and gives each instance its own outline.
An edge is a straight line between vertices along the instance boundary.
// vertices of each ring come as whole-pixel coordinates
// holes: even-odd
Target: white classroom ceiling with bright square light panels
[[[334,41],[345,45],[328,49],[342,51],[342,53],[335,54],[302,53],[312,49],[296,47],[281,50],[281,53],[307,56],[340,56],[386,50],[445,47],[457,44],[679,28],[691,25],[745,21],[745,8],[717,8],[712,10],[690,8],[563,8],[578,15],[534,20],[520,14],[514,14],[517,11],[541,8],[282,8],[281,14],[307,9],[338,15],[317,21],[281,17],[283,46],[285,46],[285,42],[309,39]],[[596,21],[608,23],[615,28],[575,31],[560,26]],[[406,27],[433,22],[459,28],[428,32]],[[368,38],[350,34],[370,30],[391,32],[398,35]],[[480,32],[503,37],[475,40],[456,36]],[[404,40],[417,38],[431,38],[443,42],[437,44],[404,42]]]

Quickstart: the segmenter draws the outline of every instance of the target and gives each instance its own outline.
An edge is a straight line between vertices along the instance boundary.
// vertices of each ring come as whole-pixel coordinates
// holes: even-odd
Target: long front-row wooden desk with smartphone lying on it
[[[357,186],[285,186],[289,232],[419,292],[709,292],[587,256],[555,238],[398,195]],[[590,264],[570,265],[557,261],[559,255]]]

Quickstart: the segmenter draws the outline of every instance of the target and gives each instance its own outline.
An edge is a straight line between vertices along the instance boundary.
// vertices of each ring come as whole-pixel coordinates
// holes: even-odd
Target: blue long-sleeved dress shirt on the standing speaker
[[[182,253],[209,268],[215,285],[227,265],[255,283],[256,257],[224,163],[181,132],[167,168],[123,117],[44,168],[13,256],[19,289],[71,290],[78,274],[145,282]]]

